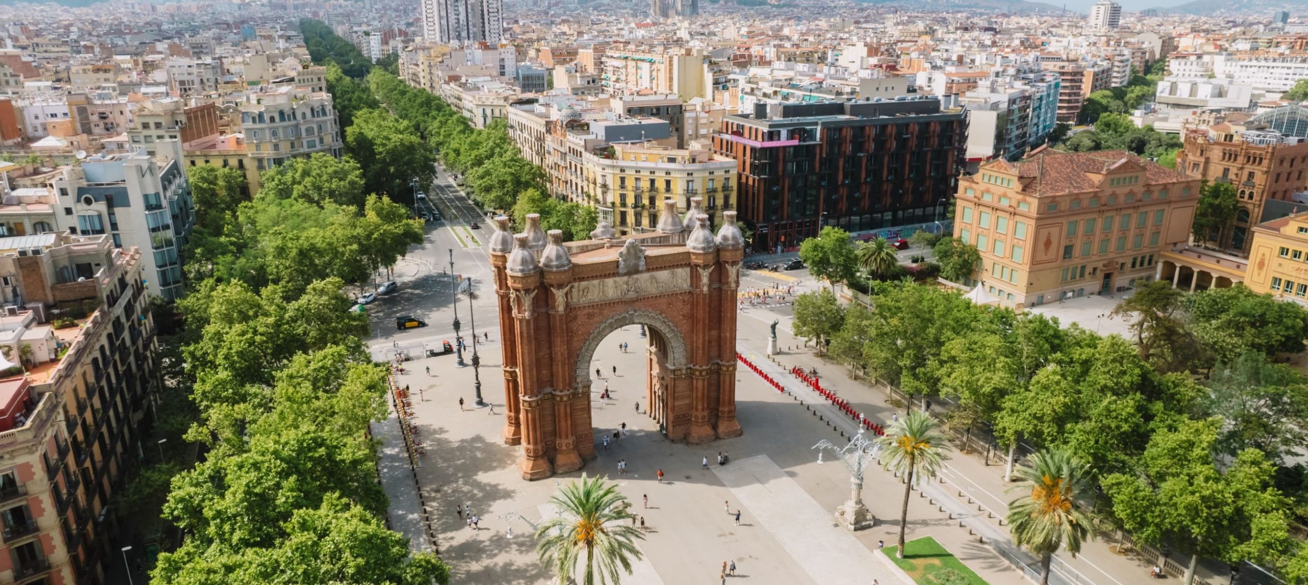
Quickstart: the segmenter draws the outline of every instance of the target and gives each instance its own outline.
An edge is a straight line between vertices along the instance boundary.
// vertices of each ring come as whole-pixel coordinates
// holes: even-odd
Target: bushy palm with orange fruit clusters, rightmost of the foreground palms
[[[1086,488],[1086,465],[1066,451],[1041,451],[1031,466],[1018,467],[1022,483],[1010,490],[1029,490],[1029,495],[1008,503],[1008,530],[1012,539],[1040,555],[1040,584],[1049,584],[1049,563],[1066,547],[1073,556],[1090,537],[1090,521],[1074,507]]]

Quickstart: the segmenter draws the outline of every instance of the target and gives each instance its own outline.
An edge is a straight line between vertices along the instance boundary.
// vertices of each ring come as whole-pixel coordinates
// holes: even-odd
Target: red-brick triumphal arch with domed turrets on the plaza
[[[591,356],[624,325],[645,325],[645,403],[668,439],[740,435],[735,417],[736,289],[744,240],[735,212],[717,235],[692,200],[664,200],[658,230],[617,236],[602,222],[585,242],[548,235],[539,215],[522,234],[496,218],[490,239],[504,338],[504,441],[522,445],[526,479],[595,457]],[[629,394],[628,394],[629,396]]]

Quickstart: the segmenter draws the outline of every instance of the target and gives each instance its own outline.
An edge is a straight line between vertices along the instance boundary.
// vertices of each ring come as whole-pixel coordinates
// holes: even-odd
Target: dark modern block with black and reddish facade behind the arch
[[[882,230],[944,221],[967,151],[965,111],[925,97],[756,104],[713,137],[736,159],[755,251],[823,226]]]

